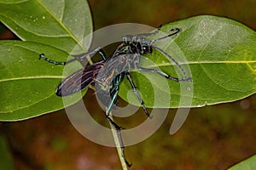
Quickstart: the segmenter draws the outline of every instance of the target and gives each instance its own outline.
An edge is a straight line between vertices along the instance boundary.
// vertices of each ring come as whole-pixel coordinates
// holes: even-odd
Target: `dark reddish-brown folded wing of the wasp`
[[[56,88],[55,94],[58,96],[67,96],[86,88],[95,80],[97,73],[102,66],[102,63],[96,63],[74,72],[61,82],[61,84]]]

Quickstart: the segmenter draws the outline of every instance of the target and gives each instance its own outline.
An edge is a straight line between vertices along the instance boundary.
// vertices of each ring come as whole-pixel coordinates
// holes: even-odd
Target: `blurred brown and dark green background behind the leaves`
[[[124,22],[157,27],[199,14],[228,17],[256,29],[254,0],[90,0],[89,4],[95,30]],[[4,26],[0,31],[1,39],[16,38]],[[89,90],[84,101],[95,112],[96,120],[107,124],[93,93]],[[226,169],[256,154],[255,112],[255,95],[229,104],[191,109],[183,127],[171,136],[169,128],[176,112],[170,110],[154,135],[125,148],[127,159],[133,163],[131,169]],[[139,111],[137,116],[118,121],[124,127],[132,127],[143,121],[142,115],[143,111]],[[0,122],[0,134],[0,151],[3,146],[11,150],[8,158],[14,159],[15,169],[121,168],[115,148],[84,139],[65,111],[22,122]],[[6,166],[3,160],[0,159],[0,167]]]

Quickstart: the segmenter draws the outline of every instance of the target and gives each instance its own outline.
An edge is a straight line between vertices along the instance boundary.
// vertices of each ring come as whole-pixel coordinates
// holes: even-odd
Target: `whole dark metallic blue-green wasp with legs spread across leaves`
[[[130,70],[137,69],[138,71],[157,73],[161,77],[165,77],[166,79],[175,82],[187,82],[192,80],[191,77],[187,77],[187,74],[183,70],[183,67],[179,65],[176,59],[172,58],[172,56],[170,54],[167,54],[163,49],[158,48],[154,45],[154,42],[158,42],[167,37],[172,37],[176,35],[180,31],[180,29],[173,28],[170,34],[149,41],[147,37],[156,35],[160,31],[160,29],[161,26],[159,26],[156,31],[153,31],[151,33],[127,35],[123,37],[123,42],[119,45],[118,48],[114,50],[113,54],[111,54],[108,58],[107,55],[103,52],[102,48],[96,48],[84,54],[73,55],[74,59],[67,60],[66,62],[49,59],[45,57],[44,54],[39,55],[39,59],[44,59],[54,65],[67,65],[68,63],[71,63],[77,59],[82,61],[86,59],[86,56],[94,55],[96,53],[99,53],[102,56],[102,61],[97,62],[93,65],[85,66],[83,69],[76,71],[72,75],[66,77],[55,89],[55,94],[58,96],[67,96],[83,90],[84,88],[88,87],[92,82],[99,83],[100,88],[96,90],[101,93],[100,95],[108,94],[108,99],[103,99],[105,101],[102,101],[103,104],[107,105],[107,111],[105,113],[105,116],[107,117],[108,122],[110,122],[113,127],[115,127],[115,129],[119,132],[118,134],[120,140],[120,147],[122,149],[122,156],[128,167],[131,167],[131,164],[125,159],[124,144],[122,142],[120,134],[120,130],[122,129],[122,127],[119,127],[109,117],[109,113],[113,108],[113,105],[116,105],[117,103],[119,83],[124,79],[124,77],[130,82],[134,94],[137,96],[138,101],[143,107],[143,111],[148,117],[150,117],[144,105],[143,99],[137,92],[136,85],[131,79]],[[140,66],[139,64],[141,55],[152,54],[153,49],[157,49],[158,51],[160,51],[160,53],[166,55],[169,59],[172,59],[172,62],[174,62],[175,65],[178,66],[180,71],[182,71],[183,78],[172,77],[163,71],[144,68]]]

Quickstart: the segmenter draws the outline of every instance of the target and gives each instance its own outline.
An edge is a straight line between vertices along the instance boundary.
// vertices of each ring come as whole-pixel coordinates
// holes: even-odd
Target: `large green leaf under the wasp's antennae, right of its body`
[[[231,102],[255,93],[255,31],[234,20],[215,16],[180,20],[163,26],[161,31],[169,34],[175,27],[181,32],[157,42],[156,46],[171,54],[193,82],[173,82],[155,73],[133,72],[131,76],[146,106],[199,107]],[[142,62],[144,67],[184,77],[177,65],[157,50],[147,57]],[[140,105],[130,92],[129,82],[124,81],[119,95],[133,105]]]

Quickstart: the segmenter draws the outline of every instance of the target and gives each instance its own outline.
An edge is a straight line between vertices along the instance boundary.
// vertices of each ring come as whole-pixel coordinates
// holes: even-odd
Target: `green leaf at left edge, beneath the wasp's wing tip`
[[[55,88],[63,77],[82,66],[73,62],[63,72],[63,65],[39,60],[42,51],[56,60],[68,57],[61,50],[35,42],[0,42],[0,120],[23,120],[64,108],[61,97],[55,95]],[[76,103],[81,96],[72,95],[67,99],[65,106]]]

